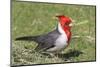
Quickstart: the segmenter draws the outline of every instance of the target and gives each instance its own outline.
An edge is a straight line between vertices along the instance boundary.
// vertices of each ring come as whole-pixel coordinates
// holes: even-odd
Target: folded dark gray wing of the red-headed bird
[[[49,48],[54,47],[56,39],[59,37],[60,33],[56,29],[46,35],[42,35],[37,38],[38,46],[35,48],[36,51],[46,51]]]

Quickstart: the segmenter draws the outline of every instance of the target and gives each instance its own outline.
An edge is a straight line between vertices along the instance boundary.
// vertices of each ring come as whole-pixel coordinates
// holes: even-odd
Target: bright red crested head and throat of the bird
[[[58,17],[59,22],[61,24],[61,27],[64,30],[64,32],[66,33],[67,38],[68,38],[68,42],[69,42],[69,40],[71,38],[71,31],[70,31],[71,23],[72,23],[71,18],[64,16],[64,15],[59,15],[59,16],[56,16],[56,17]]]

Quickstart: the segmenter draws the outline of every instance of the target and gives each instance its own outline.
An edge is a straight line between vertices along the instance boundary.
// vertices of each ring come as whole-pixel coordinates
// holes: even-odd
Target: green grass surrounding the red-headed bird
[[[57,14],[75,20],[70,46],[58,57],[48,57],[34,51],[35,42],[15,41],[16,37],[48,33],[55,28]],[[12,65],[95,61],[95,6],[32,3],[12,1]]]

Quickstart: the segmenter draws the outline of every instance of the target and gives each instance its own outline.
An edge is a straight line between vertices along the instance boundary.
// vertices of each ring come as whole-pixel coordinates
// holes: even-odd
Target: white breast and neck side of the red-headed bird
[[[60,23],[58,24],[58,31],[61,33],[61,35],[58,37],[58,39],[55,42],[55,47],[48,49],[47,51],[60,51],[66,48],[67,44],[67,36],[62,29]]]

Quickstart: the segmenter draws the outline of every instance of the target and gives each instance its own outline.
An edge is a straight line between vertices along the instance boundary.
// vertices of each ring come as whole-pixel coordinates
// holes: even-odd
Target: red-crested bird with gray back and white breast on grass
[[[49,33],[37,36],[18,37],[16,41],[34,41],[38,45],[35,50],[40,52],[58,53],[70,44],[72,19],[65,15],[57,15],[58,24],[56,29]]]

